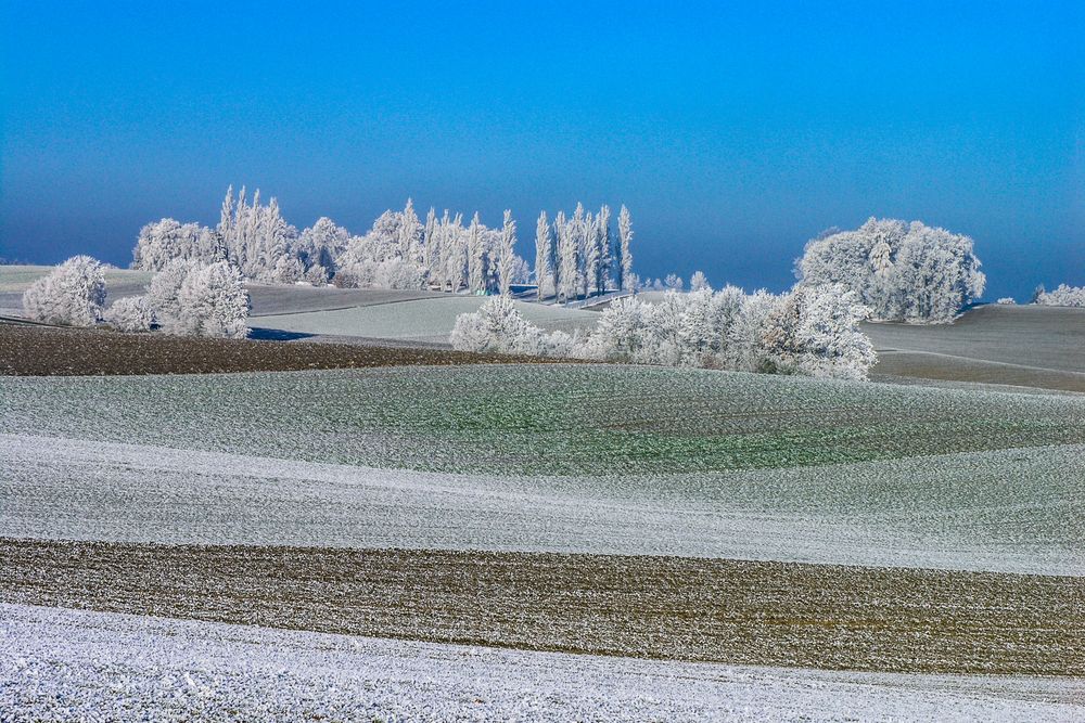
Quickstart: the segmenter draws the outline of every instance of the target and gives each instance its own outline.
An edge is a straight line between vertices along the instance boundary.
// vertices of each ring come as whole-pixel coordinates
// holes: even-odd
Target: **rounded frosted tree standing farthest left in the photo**
[[[89,256],[73,256],[23,293],[27,317],[49,324],[93,326],[104,306],[104,269]]]

